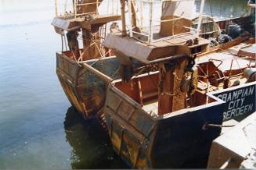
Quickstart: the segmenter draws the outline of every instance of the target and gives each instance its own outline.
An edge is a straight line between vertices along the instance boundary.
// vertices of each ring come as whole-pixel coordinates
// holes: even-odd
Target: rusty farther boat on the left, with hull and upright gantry
[[[70,103],[84,118],[103,108],[105,95],[102,89],[106,86],[88,74],[84,62],[113,55],[101,44],[107,29],[116,27],[115,22],[121,19],[114,12],[99,14],[102,2],[74,0],[73,12],[65,12],[63,15],[58,14],[56,4],[56,17],[52,20],[62,40],[62,51],[56,53],[56,73]],[[100,69],[103,62],[89,63]]]

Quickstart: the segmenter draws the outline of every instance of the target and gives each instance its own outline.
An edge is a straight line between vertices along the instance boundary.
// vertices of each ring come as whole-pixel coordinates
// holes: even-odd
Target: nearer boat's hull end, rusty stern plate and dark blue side
[[[114,151],[131,167],[189,168],[189,163],[202,159],[202,167],[206,166],[211,142],[221,129],[203,126],[221,125],[223,109],[224,102],[217,99],[211,104],[154,117],[110,84],[104,113]]]

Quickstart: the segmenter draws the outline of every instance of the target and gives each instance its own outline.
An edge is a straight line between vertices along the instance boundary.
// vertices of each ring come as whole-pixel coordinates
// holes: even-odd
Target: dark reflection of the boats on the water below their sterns
[[[73,107],[68,108],[64,121],[72,168],[128,168],[114,153],[106,129],[97,119],[82,119]]]

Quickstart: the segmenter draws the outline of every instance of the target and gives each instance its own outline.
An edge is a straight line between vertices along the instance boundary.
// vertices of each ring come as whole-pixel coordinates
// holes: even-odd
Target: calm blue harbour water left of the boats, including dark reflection
[[[127,168],[106,131],[70,108],[52,16],[53,0],[0,0],[0,169]]]

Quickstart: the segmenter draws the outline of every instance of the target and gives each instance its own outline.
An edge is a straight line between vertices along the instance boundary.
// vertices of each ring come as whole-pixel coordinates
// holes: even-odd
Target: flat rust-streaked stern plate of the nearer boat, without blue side
[[[114,151],[131,167],[150,168],[155,120],[131,98],[110,85],[104,113]]]

